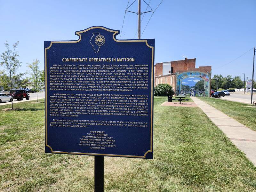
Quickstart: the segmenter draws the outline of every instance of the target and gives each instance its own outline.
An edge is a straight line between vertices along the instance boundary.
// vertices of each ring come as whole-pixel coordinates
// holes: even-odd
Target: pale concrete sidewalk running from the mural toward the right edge
[[[256,132],[252,131],[235,119],[227,116],[204,101],[191,97],[204,113],[217,125],[227,137],[243,151],[247,158],[256,166]]]

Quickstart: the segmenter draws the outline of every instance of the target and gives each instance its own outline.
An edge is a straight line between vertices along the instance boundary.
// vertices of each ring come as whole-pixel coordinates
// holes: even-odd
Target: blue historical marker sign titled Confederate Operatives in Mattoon
[[[153,158],[154,39],[45,41],[45,152]]]

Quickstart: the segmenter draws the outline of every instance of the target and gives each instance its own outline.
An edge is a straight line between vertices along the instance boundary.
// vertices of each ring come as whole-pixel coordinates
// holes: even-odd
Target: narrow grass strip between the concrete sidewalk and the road
[[[256,108],[252,108],[252,104],[244,104],[211,97],[199,97],[199,99],[205,101],[212,107],[219,109],[233,119],[236,119],[236,121],[244,124],[253,131],[256,131]]]

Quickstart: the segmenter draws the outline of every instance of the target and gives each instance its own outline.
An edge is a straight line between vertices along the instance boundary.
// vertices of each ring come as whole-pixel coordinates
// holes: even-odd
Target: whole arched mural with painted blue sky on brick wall
[[[200,94],[206,97],[210,96],[211,75],[209,75],[209,73],[204,73],[200,71],[186,71],[183,73],[176,73],[175,75],[176,95],[182,94],[186,91],[197,91],[198,95]]]

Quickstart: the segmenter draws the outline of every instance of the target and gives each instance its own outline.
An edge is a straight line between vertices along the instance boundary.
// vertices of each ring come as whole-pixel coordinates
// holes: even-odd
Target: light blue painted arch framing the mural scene
[[[178,95],[180,91],[182,90],[182,80],[188,77],[199,77],[204,80],[204,91],[205,96],[210,97],[211,93],[211,73],[207,72],[201,72],[201,71],[186,71],[186,72],[176,72],[176,90],[175,93]]]

